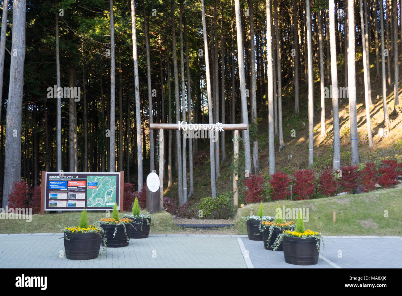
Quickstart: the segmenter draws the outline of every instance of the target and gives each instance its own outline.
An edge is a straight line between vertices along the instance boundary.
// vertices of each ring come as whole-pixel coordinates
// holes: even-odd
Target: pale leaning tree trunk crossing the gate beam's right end
[[[246,81],[244,77],[244,54],[243,54],[243,39],[242,39],[242,25],[240,16],[240,0],[235,0],[236,10],[236,32],[237,32],[237,48],[238,48],[238,63],[239,63],[239,76],[240,76],[240,97],[242,102],[242,116],[243,123],[248,126],[248,112],[247,112],[247,99],[246,99]],[[270,25],[271,26],[271,25]],[[244,138],[244,157],[246,170],[251,172],[251,153],[250,153],[250,134],[249,130],[243,131]]]

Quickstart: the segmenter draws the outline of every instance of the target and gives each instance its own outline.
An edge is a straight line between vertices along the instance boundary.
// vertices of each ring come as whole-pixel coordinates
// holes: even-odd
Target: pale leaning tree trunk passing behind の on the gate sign
[[[238,1],[238,0],[236,0]],[[237,4],[236,4],[237,5]],[[203,35],[204,35],[204,53],[205,53],[205,75],[207,81],[207,96],[208,96],[208,116],[209,123],[213,124],[212,118],[212,97],[211,97],[211,79],[209,74],[209,58],[208,58],[208,40],[207,40],[207,25],[205,21],[205,6],[204,0],[201,0],[201,10],[202,10],[202,25],[203,25]],[[237,8],[236,8],[237,12]],[[241,47],[240,47],[241,48]],[[212,139],[209,138],[209,156],[211,159],[211,197],[216,197],[216,184],[215,184],[215,151],[213,151],[214,145]]]

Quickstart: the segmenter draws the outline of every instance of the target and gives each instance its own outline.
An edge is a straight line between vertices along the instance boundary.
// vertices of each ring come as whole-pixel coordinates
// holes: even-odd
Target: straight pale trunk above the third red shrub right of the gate
[[[310,0],[306,0],[307,19],[307,58],[308,58],[308,166],[313,165],[314,147],[314,84],[313,84],[313,53],[311,39]]]

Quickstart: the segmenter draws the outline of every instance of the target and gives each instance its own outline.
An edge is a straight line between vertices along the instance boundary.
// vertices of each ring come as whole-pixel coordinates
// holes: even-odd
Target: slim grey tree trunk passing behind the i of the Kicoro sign
[[[186,85],[185,85],[185,73],[184,73],[184,42],[183,42],[183,1],[180,1],[180,19],[179,19],[179,31],[180,31],[180,76],[181,76],[181,101],[182,101],[182,120],[186,122]],[[187,58],[187,56],[186,56]],[[190,81],[188,81],[190,83]],[[185,137],[186,131],[183,130],[183,203],[187,203],[187,141]]]

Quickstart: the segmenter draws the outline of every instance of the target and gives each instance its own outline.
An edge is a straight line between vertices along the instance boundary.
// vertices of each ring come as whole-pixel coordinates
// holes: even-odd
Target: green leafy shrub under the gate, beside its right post
[[[236,213],[233,205],[233,192],[220,194],[215,198],[202,198],[193,206],[193,209],[201,210],[202,218],[205,219],[230,219]]]

